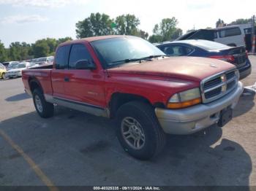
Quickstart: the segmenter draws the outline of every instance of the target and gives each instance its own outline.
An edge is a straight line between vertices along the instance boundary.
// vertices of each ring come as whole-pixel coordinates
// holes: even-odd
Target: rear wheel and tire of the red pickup
[[[54,106],[53,104],[48,103],[45,101],[45,97],[42,93],[42,90],[36,89],[33,91],[33,101],[34,107],[37,110],[37,113],[42,118],[52,117],[54,113]]]

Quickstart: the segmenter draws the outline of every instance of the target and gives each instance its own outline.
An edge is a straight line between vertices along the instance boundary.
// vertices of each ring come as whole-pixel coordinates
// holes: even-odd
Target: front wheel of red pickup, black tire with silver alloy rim
[[[118,141],[132,157],[149,160],[165,147],[166,135],[149,104],[141,101],[124,104],[118,109],[116,123]],[[135,143],[134,138],[140,141]]]

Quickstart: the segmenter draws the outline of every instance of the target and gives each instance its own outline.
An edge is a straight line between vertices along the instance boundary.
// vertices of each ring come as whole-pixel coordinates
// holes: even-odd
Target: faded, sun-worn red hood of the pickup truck
[[[107,71],[110,74],[154,75],[200,82],[206,77],[234,67],[231,63],[217,59],[182,56],[160,58],[142,63],[127,63]]]

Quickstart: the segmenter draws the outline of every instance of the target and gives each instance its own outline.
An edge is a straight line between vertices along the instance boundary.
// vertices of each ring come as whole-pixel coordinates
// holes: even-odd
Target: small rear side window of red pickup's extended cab
[[[56,52],[55,66],[56,69],[67,69],[67,63],[69,59],[70,45],[59,47]]]

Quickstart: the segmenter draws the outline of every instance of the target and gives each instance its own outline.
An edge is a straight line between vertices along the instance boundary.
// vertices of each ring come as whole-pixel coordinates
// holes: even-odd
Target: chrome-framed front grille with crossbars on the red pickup
[[[209,103],[230,93],[237,83],[238,74],[234,69],[203,79],[201,82],[203,103]]]

